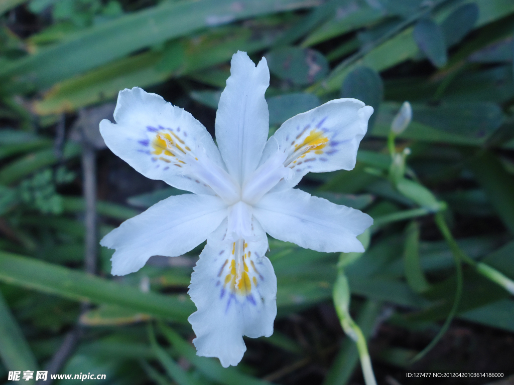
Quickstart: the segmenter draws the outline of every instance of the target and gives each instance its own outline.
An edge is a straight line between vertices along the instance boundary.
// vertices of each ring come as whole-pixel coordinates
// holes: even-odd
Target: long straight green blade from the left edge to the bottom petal
[[[142,293],[135,287],[33,258],[0,252],[0,280],[78,301],[125,306],[186,323],[194,305],[186,295]]]

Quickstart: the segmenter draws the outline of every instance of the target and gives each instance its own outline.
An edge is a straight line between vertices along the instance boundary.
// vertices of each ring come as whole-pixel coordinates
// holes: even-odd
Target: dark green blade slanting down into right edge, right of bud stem
[[[505,226],[514,233],[514,180],[491,152],[484,151],[469,164]]]

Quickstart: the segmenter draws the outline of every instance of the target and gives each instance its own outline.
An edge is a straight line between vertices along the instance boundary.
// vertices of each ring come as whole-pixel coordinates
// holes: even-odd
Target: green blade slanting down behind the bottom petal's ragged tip
[[[243,374],[235,367],[223,368],[216,359],[197,356],[193,345],[163,323],[159,323],[159,329],[177,352],[195,365],[198,371],[207,378],[226,385],[269,385],[268,381]]]

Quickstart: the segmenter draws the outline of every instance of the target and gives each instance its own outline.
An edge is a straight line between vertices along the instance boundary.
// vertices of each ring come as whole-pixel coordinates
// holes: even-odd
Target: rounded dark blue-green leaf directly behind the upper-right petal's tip
[[[341,87],[341,97],[355,98],[373,107],[374,113],[368,123],[370,130],[375,123],[383,93],[384,87],[380,75],[369,67],[355,68],[348,73]]]

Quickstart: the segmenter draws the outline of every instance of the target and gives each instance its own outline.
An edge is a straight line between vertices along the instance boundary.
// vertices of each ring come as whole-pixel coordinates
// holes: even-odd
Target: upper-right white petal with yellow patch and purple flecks
[[[368,130],[373,107],[357,99],[336,99],[287,120],[269,138],[260,164],[286,151],[284,166],[295,176],[272,191],[293,187],[307,172],[351,170]]]

